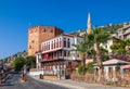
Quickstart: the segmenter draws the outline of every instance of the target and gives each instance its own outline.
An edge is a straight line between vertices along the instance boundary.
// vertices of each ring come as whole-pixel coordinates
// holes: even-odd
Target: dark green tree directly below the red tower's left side
[[[36,58],[34,55],[29,55],[26,58],[26,65],[29,68],[35,68],[36,67]]]

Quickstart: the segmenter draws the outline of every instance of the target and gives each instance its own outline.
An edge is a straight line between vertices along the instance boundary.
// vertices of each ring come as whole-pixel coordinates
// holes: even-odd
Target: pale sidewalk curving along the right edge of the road
[[[57,86],[66,87],[68,89],[129,89],[125,87],[113,87],[113,86],[105,86],[105,85],[98,85],[98,84],[77,82],[77,81],[73,81],[72,79],[44,80],[44,79],[39,79],[38,76],[30,76],[30,77],[42,82],[54,84]]]

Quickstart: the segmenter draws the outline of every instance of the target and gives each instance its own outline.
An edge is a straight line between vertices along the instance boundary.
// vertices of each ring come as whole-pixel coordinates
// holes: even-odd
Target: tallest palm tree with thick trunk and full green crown
[[[101,43],[106,43],[109,37],[109,31],[105,28],[94,28],[89,35],[88,40],[93,42],[96,50],[96,61],[100,67],[100,73],[103,75],[102,51]]]

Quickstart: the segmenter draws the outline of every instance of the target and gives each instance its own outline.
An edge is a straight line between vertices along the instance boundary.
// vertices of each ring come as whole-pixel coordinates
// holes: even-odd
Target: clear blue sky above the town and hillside
[[[29,24],[65,33],[130,21],[130,0],[0,0],[0,59],[27,49]]]

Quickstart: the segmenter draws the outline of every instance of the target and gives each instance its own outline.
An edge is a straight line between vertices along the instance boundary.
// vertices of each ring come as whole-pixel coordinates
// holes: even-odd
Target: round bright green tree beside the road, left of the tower
[[[15,68],[16,72],[22,71],[24,65],[25,65],[25,59],[24,58],[16,58],[13,61],[13,67]]]

